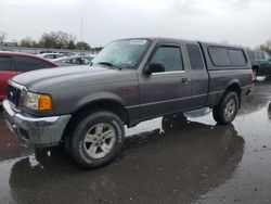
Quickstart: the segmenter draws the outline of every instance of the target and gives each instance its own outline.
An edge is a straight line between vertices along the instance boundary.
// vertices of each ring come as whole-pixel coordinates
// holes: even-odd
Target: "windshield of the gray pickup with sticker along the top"
[[[149,44],[150,40],[146,39],[114,41],[108,43],[92,63],[109,63],[119,68],[136,69]]]

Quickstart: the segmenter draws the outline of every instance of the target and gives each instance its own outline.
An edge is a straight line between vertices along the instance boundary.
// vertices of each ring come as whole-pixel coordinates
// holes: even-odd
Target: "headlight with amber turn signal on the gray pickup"
[[[37,111],[52,111],[52,98],[49,94],[27,92],[24,99],[24,106]]]

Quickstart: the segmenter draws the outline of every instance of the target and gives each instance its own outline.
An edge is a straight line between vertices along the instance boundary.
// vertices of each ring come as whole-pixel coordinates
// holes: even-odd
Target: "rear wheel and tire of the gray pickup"
[[[220,103],[212,109],[214,119],[220,125],[231,124],[237,115],[238,103],[236,92],[225,92]]]

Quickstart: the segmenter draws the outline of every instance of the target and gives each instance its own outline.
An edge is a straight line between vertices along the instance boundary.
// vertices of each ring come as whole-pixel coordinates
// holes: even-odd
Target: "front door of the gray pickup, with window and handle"
[[[139,79],[142,118],[151,118],[190,106],[191,82],[179,43],[157,44],[147,63],[163,63],[165,72],[143,75]],[[145,67],[146,67],[145,66]]]

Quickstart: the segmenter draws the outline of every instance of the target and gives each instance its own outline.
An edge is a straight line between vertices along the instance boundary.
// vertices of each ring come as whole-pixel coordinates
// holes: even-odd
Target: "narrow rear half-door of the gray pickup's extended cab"
[[[203,54],[197,43],[186,46],[192,81],[191,105],[193,109],[206,105],[208,97],[209,76],[205,67]]]

